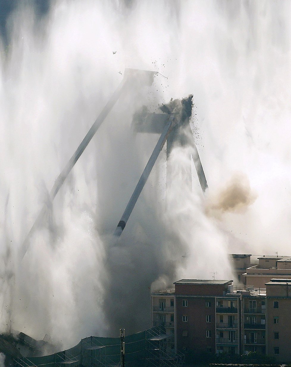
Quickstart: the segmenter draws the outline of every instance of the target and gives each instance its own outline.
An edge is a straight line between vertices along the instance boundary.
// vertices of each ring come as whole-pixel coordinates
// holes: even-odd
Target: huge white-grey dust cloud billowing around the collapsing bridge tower
[[[233,279],[228,252],[289,253],[289,1],[51,1],[40,19],[19,2],[0,53],[2,332],[45,333],[64,348],[88,335],[150,327],[150,290],[187,278]],[[113,51],[117,51],[113,54]],[[112,110],[53,203],[48,192],[122,79],[158,70],[151,88]],[[132,116],[194,94],[192,127],[219,197],[236,172],[256,199],[206,213],[187,147],[163,150],[117,244],[119,218],[158,137]],[[21,265],[17,252],[43,204],[50,215]],[[237,239],[229,243],[228,233]],[[246,243],[248,248],[240,247]]]

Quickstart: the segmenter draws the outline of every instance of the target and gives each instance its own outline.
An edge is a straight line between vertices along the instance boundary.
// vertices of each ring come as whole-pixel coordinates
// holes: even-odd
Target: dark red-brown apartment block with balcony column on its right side
[[[176,349],[195,355],[240,353],[241,295],[232,280],[182,279],[175,284]]]

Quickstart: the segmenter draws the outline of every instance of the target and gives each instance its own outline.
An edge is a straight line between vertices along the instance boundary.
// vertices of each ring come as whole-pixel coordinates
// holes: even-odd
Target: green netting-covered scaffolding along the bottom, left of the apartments
[[[173,335],[155,327],[128,335],[125,340],[126,367],[181,367],[184,355],[169,352]],[[120,339],[88,337],[68,350],[49,356],[18,358],[14,367],[121,367]]]

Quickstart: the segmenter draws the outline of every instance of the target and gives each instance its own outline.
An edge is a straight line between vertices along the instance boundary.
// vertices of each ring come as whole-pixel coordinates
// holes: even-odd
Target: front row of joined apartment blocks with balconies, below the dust
[[[233,287],[232,282],[182,279],[165,304],[162,292],[153,293],[153,326],[165,323],[167,333],[175,336],[172,350],[195,355],[257,352],[277,363],[290,362],[291,280],[272,279],[259,289]],[[158,313],[165,317],[159,319]]]

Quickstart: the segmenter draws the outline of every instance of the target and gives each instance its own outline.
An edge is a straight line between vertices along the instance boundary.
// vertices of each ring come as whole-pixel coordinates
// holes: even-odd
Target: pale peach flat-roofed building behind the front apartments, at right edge
[[[250,266],[243,273],[246,281],[244,284],[252,285],[256,288],[265,288],[265,284],[272,278],[291,279],[291,257],[290,256],[269,256],[258,257],[259,263]]]

